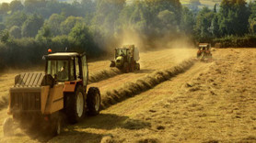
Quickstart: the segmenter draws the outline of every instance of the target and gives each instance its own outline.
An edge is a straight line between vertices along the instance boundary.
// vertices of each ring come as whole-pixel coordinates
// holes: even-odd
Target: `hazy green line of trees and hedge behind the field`
[[[180,0],[13,0],[0,4],[0,66],[40,64],[48,48],[97,57],[121,44],[127,31],[145,43],[186,36],[194,42],[248,44],[255,39],[256,3],[222,0],[214,9],[198,9],[181,6]]]

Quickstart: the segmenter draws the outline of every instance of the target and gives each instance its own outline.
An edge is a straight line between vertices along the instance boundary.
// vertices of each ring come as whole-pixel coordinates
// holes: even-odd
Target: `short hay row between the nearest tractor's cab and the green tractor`
[[[121,73],[122,73],[122,71],[120,71],[117,68],[101,70],[101,71],[89,74],[88,82],[89,83],[99,82],[99,81],[106,80],[108,78],[111,78],[111,77],[116,76]]]

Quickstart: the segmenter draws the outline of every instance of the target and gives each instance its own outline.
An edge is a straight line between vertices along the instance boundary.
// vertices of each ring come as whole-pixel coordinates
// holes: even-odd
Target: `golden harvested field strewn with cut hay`
[[[182,62],[194,50],[182,59],[178,51],[144,53],[146,71],[90,84],[99,86],[108,108],[67,126],[61,136],[17,130],[13,137],[0,135],[0,142],[256,142],[256,49],[215,49],[213,62],[195,63]],[[130,98],[119,99],[122,92]],[[109,101],[111,95],[116,97]],[[5,117],[6,109],[0,111],[0,132]]]

